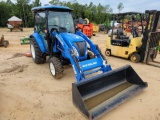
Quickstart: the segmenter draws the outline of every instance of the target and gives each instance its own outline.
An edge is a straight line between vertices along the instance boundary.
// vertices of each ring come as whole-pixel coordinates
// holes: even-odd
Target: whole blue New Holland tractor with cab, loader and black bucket
[[[72,83],[73,103],[88,118],[99,117],[147,87],[129,65],[111,70],[98,45],[75,30],[72,9],[47,5],[32,11],[35,18],[34,33],[30,35],[33,61],[42,64],[48,58],[55,79],[63,76],[64,65],[72,65],[77,80]],[[87,77],[90,74],[92,77]]]

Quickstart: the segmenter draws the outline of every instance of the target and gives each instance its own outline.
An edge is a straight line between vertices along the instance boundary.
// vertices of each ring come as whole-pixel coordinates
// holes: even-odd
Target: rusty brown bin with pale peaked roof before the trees
[[[9,23],[7,23],[7,26],[8,26],[8,29],[10,29],[11,32],[12,32],[13,30],[23,31],[23,28],[22,28],[22,20],[19,19],[18,17],[13,16],[13,17],[11,17],[10,19],[8,19],[8,22],[9,22]]]

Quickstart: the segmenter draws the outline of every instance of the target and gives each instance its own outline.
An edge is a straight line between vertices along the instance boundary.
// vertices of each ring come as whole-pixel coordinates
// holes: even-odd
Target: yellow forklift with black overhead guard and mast
[[[124,19],[126,16],[131,16],[132,30],[130,36],[124,34]],[[139,27],[135,27],[134,22],[136,17],[139,16],[141,20],[141,33],[139,34]],[[142,20],[147,21],[147,25],[144,29]],[[122,58],[130,59],[132,62],[149,62],[154,61],[157,55],[160,32],[158,29],[158,22],[160,18],[160,11],[146,10],[145,14],[138,12],[126,12],[113,15],[113,25],[115,19],[120,18],[122,20],[121,28],[115,28],[112,26],[111,35],[107,37],[106,41],[106,56],[117,56]]]

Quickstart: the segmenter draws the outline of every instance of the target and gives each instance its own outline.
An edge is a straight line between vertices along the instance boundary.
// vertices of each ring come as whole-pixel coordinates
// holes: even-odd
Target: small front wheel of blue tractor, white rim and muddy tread
[[[57,57],[52,57],[49,60],[49,69],[54,78],[59,79],[63,77],[63,66]]]

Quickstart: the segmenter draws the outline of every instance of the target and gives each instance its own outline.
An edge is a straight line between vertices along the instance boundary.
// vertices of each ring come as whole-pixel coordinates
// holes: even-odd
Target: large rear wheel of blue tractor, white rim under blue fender
[[[46,57],[43,57],[43,53],[40,50],[38,43],[34,38],[30,41],[30,51],[32,53],[32,59],[36,64],[43,64],[46,61]]]

